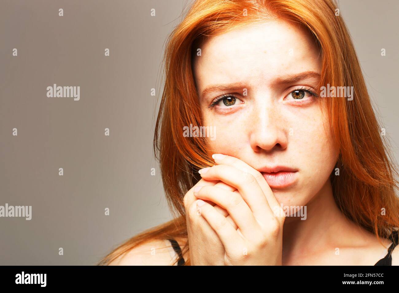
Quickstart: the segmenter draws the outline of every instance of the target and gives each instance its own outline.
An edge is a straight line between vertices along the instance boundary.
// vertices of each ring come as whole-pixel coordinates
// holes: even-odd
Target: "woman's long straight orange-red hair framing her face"
[[[293,20],[312,33],[322,54],[320,86],[354,87],[353,100],[323,98],[340,150],[340,175],[330,177],[334,198],[348,218],[379,240],[392,236],[399,227],[397,166],[387,136],[381,135],[354,45],[344,21],[336,15],[337,8],[333,0],[197,0],[192,4],[167,40],[165,84],[154,134],[154,152],[174,220],[132,237],[100,265],[148,240],[187,237],[183,197],[199,181],[196,171],[213,165],[205,138],[182,135],[184,126],[201,125],[192,57],[204,37],[273,18]],[[188,241],[182,250],[189,250]]]

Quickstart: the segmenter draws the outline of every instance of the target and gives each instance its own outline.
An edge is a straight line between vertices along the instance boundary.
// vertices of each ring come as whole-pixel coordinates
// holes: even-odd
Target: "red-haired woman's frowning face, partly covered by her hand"
[[[296,170],[263,174],[279,203],[306,205],[328,186],[337,161],[320,100],[308,92],[319,92],[321,58],[314,39],[293,22],[278,20],[211,37],[200,48],[193,70],[203,126],[216,130],[209,149],[261,172]]]

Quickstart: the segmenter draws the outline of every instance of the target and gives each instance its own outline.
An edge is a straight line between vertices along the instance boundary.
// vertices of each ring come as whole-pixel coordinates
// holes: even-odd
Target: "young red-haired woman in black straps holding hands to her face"
[[[99,264],[399,264],[398,173],[336,8],[194,2],[154,136],[175,219]]]

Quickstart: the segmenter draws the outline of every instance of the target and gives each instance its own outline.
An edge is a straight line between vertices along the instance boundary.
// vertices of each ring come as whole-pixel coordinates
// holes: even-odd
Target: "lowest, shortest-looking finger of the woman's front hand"
[[[242,242],[242,238],[239,233],[231,226],[228,220],[221,214],[219,214],[213,206],[205,203],[202,200],[197,201],[198,209],[201,216],[211,226],[211,228],[219,236],[226,251],[234,250],[238,243]]]

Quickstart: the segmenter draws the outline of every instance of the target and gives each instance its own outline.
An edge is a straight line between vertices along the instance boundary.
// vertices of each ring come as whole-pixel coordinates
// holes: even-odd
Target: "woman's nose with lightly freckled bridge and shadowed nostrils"
[[[256,152],[286,149],[288,131],[284,119],[273,105],[256,107],[251,116],[250,143]]]

